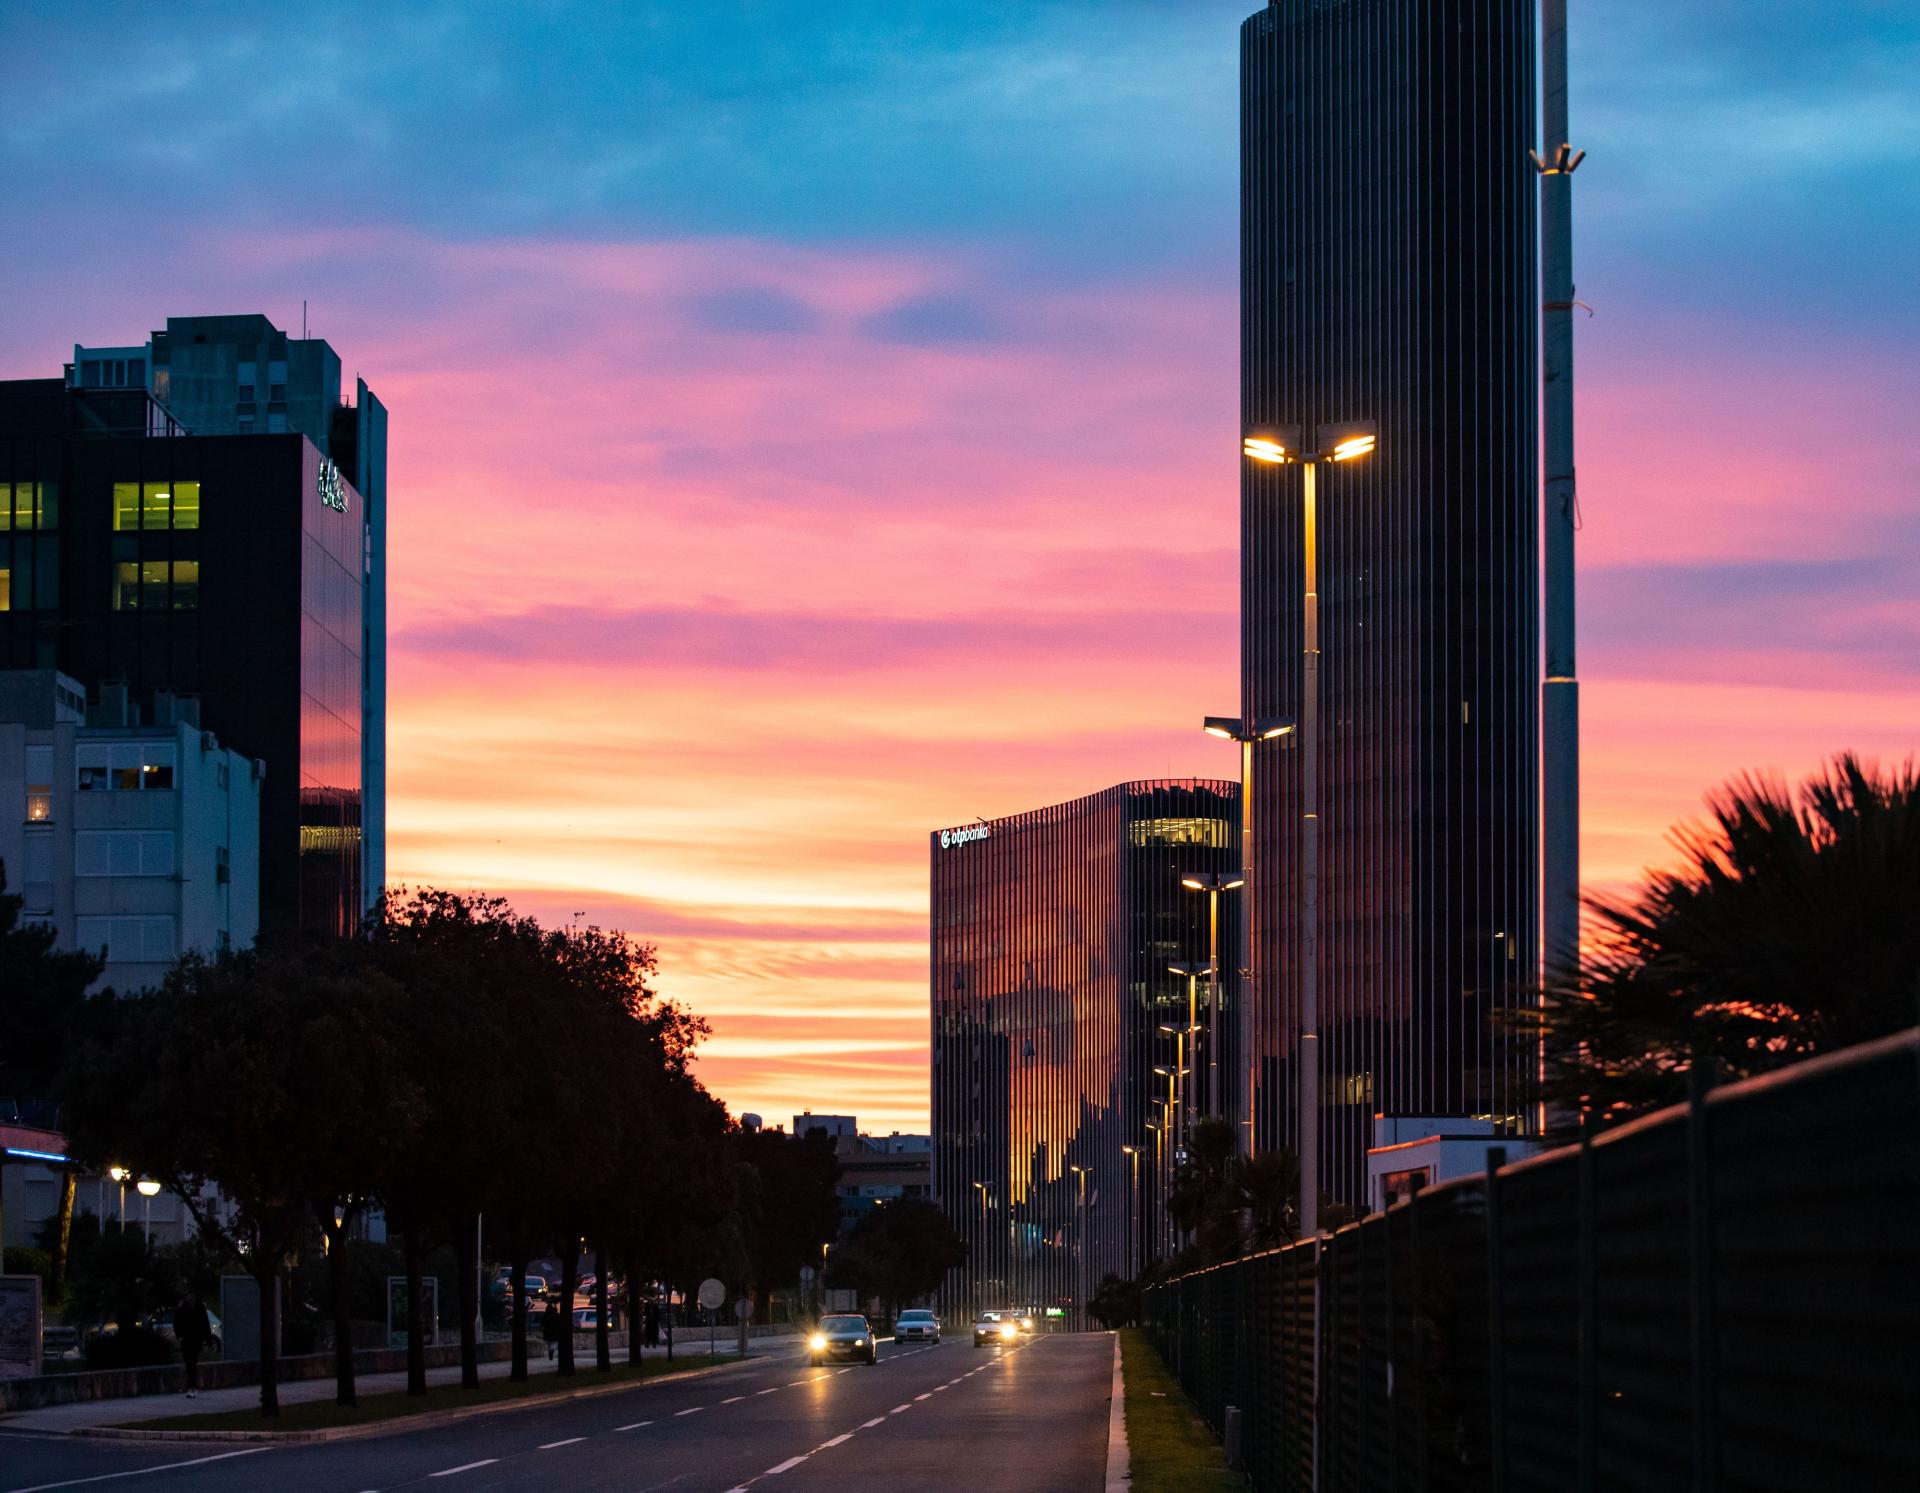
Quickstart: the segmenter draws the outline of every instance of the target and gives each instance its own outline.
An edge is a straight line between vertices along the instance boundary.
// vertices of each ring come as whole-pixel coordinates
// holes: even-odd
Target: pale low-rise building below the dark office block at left
[[[21,915],[106,952],[100,984],[157,984],[188,952],[259,929],[265,768],[200,729],[198,702],[146,716],[123,685],[92,710],[54,670],[0,672],[0,864]]]

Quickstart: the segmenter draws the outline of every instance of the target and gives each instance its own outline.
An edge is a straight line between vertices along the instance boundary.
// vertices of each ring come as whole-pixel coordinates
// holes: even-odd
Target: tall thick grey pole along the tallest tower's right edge
[[[1546,679],[1542,754],[1542,971],[1580,969],[1580,681],[1574,666],[1572,169],[1567,144],[1567,0],[1542,0],[1540,259],[1544,280]]]

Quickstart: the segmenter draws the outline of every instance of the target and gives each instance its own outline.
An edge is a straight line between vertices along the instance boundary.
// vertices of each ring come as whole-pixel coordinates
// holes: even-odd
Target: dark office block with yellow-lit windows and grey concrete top
[[[261,925],[386,881],[386,409],[265,317],[175,317],[0,384],[0,668],[156,691],[265,764]],[[119,685],[125,683],[127,689]]]

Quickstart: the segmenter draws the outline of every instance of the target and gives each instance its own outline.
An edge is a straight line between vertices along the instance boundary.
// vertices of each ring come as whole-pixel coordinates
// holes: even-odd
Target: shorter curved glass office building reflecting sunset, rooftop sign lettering
[[[1148,1123],[1164,1123],[1167,1094],[1154,1067],[1177,1067],[1160,1025],[1188,1025],[1190,988],[1167,965],[1208,960],[1210,894],[1181,879],[1238,871],[1238,793],[1121,783],[933,835],[933,1194],[968,1242],[948,1309],[1081,1320],[1102,1276],[1171,1253],[1171,1155]],[[1223,965],[1235,898],[1221,894]],[[1204,979],[1198,990],[1206,1029]],[[1233,1015],[1219,1021],[1225,1075]],[[1204,1044],[1187,1061],[1206,1113]]]

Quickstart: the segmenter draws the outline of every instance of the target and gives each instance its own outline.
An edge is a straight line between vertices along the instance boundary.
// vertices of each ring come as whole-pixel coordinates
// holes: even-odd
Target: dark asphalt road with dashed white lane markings
[[[676,1489],[826,1493],[856,1481],[1096,1493],[1114,1339],[881,1347],[877,1366],[791,1351],[538,1410],[298,1447],[117,1443],[0,1432],[0,1493],[88,1487],[430,1493]],[[582,1376],[591,1384],[591,1370]],[[232,1455],[240,1453],[240,1455]]]

